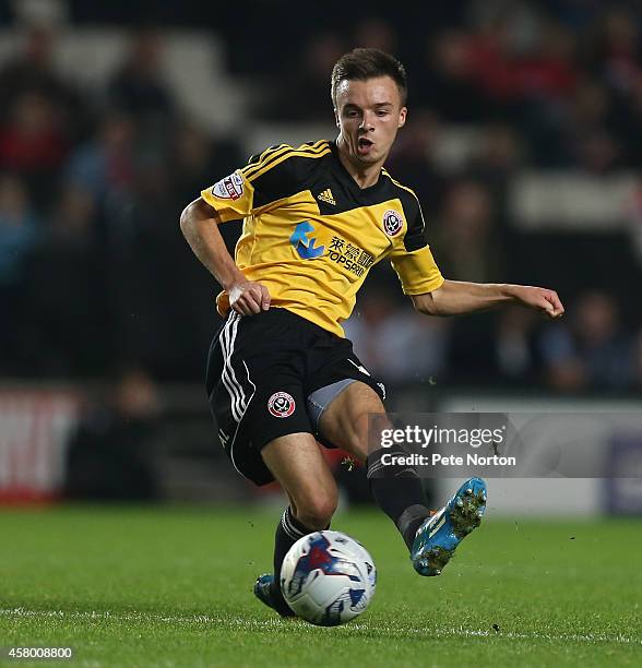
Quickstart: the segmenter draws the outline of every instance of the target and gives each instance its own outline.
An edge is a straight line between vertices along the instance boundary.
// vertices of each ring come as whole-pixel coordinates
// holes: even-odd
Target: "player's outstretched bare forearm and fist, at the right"
[[[409,297],[415,309],[427,315],[460,315],[507,305],[527,307],[551,319],[559,318],[564,312],[555,290],[528,285],[447,279],[429,293]]]

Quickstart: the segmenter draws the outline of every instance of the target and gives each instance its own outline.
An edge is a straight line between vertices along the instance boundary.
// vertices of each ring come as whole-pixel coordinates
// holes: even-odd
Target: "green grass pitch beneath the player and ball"
[[[281,620],[251,594],[277,516],[4,511],[0,645],[71,646],[61,663],[74,666],[641,665],[639,521],[490,512],[440,577],[421,578],[388,518],[341,514],[333,527],[372,553],[378,589],[360,618],[321,629]]]

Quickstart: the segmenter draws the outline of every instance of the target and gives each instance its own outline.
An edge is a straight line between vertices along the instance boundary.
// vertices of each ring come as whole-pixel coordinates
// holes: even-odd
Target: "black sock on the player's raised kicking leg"
[[[430,510],[426,506],[424,487],[414,468],[381,464],[381,455],[393,451],[378,450],[368,455],[368,481],[379,508],[394,522],[411,550],[415,534],[430,515]]]

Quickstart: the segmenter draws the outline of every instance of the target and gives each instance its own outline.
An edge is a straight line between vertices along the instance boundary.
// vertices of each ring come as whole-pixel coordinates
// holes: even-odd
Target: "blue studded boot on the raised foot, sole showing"
[[[486,482],[466,480],[452,499],[417,529],[411,551],[419,575],[440,575],[459,544],[479,524],[486,511]]]

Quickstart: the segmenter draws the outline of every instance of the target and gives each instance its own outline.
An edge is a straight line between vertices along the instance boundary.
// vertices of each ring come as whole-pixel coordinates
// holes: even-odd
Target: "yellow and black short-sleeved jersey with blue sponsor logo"
[[[371,266],[390,258],[406,295],[443,283],[415,193],[384,169],[359,188],[334,142],[281,145],[202,191],[222,222],[243,218],[236,263],[272,305],[343,336]],[[225,293],[221,314],[229,310]]]

